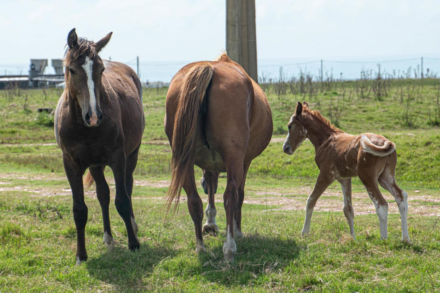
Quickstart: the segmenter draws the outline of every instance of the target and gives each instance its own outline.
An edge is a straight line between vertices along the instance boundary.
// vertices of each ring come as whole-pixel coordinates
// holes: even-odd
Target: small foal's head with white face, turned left
[[[287,124],[288,132],[286,141],[284,141],[282,145],[282,150],[288,155],[292,155],[307,138],[307,130],[304,127],[304,119],[302,116],[303,108],[308,109],[308,104],[306,102],[304,102],[304,104],[298,102],[295,114],[293,114],[289,124]]]

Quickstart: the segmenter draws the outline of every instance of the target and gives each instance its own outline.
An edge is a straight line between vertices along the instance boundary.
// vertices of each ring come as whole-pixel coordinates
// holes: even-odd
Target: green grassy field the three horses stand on
[[[311,234],[301,237],[304,206],[318,168],[305,142],[293,156],[273,142],[253,161],[246,181],[243,234],[234,264],[223,261],[223,204],[216,203],[220,235],[205,236],[207,253],[197,255],[186,201],[165,215],[163,196],[171,152],[163,131],[166,88],[144,90],[146,129],[135,171],[133,208],[141,248],[127,248],[124,223],[110,204],[116,245],[103,242],[102,216],[93,191],[86,191],[88,261],[75,266],[76,231],[70,188],[55,145],[53,118],[37,108],[55,108],[60,90],[29,90],[9,97],[0,91],[0,286],[2,291],[434,291],[440,289],[440,128],[432,127],[438,80],[392,82],[388,97],[362,99],[345,83],[337,124],[351,134],[375,132],[397,146],[398,183],[409,194],[411,244],[400,242],[400,216],[389,215],[389,239],[379,239],[374,206],[353,180],[357,242],[348,234],[340,187],[334,183],[318,201]],[[412,127],[403,119],[400,87],[419,87],[411,104]],[[296,101],[329,114],[340,86],[313,97],[268,96],[274,137],[286,135]],[[351,98],[348,98],[350,90]],[[26,103],[26,107],[24,104]],[[335,121],[332,121],[335,123]],[[196,168],[196,177],[201,171]],[[106,170],[111,196],[114,184]],[[220,200],[226,180],[220,178]],[[206,195],[197,180],[204,204]],[[416,192],[417,191],[417,192]],[[390,210],[396,203],[384,192]],[[183,195],[184,197],[184,195]],[[332,206],[334,205],[334,206]],[[328,211],[330,210],[330,211]]]

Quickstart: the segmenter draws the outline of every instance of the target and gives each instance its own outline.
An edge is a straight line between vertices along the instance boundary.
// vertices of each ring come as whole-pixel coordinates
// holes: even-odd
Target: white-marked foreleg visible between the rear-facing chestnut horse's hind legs
[[[206,223],[202,227],[202,233],[211,233],[213,235],[218,234],[219,228],[216,224],[216,205],[214,202],[214,195],[217,189],[219,173],[205,171],[203,178],[208,191],[208,205],[205,209]]]

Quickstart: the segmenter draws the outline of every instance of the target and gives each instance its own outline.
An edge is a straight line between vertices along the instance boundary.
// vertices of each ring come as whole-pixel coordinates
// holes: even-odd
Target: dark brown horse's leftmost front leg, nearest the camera
[[[85,224],[87,223],[87,206],[84,203],[84,187],[82,175],[85,168],[81,168],[79,164],[73,161],[70,156],[63,153],[62,156],[64,170],[66,171],[67,180],[70,184],[73,197],[73,221],[77,228],[77,264],[87,260],[87,252],[85,250]]]

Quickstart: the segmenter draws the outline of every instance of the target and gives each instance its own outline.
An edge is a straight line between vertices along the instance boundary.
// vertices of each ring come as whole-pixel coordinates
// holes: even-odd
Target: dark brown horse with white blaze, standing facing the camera
[[[82,178],[87,168],[86,182],[90,185],[95,181],[103,213],[104,242],[113,243],[110,189],[104,177],[104,167],[110,166],[116,185],[114,203],[127,228],[128,247],[139,249],[131,195],[132,174],[145,125],[142,86],[130,67],[99,57],[110,36],[111,33],[94,43],[78,38],[75,29],[70,31],[64,56],[66,89],[55,110],[55,138],[62,150],[73,195],[77,264],[87,260],[84,236],[87,206]]]

